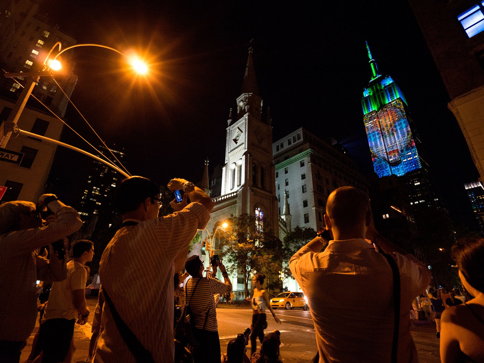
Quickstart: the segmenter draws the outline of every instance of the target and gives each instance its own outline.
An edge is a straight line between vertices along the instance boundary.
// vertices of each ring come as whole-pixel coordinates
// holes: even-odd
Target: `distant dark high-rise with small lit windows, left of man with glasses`
[[[99,146],[98,150],[109,155],[109,151]],[[121,163],[124,163],[126,154],[122,151],[109,149]],[[101,156],[97,154],[97,156]],[[119,166],[119,163],[115,163]],[[84,186],[81,197],[79,214],[84,222],[82,227],[83,238],[90,238],[96,227],[110,227],[116,208],[114,206],[114,191],[125,177],[113,168],[97,160],[92,161],[92,168]]]

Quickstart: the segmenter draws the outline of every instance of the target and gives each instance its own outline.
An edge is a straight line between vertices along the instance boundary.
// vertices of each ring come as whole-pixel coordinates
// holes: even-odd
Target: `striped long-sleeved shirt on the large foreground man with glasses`
[[[173,363],[173,261],[210,220],[200,203],[180,212],[122,227],[99,264],[103,289],[121,318],[156,363]],[[107,304],[101,315],[95,363],[135,363]]]

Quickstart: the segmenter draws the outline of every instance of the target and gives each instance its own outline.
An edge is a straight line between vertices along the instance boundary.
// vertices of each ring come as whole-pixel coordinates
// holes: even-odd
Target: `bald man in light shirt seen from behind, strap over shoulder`
[[[352,187],[328,197],[326,228],[333,240],[317,237],[289,261],[308,298],[316,328],[319,362],[391,362],[394,327],[393,273],[400,272],[398,363],[418,362],[408,309],[430,283],[429,270],[375,230],[368,198]]]

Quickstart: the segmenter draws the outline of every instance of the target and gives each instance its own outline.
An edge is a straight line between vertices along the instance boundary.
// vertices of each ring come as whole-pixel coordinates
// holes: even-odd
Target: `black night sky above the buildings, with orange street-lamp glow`
[[[224,163],[227,117],[241,93],[249,41],[259,93],[271,107],[273,139],[299,127],[346,146],[373,172],[361,97],[370,80],[368,41],[381,73],[404,92],[436,191],[457,224],[472,221],[463,183],[479,177],[449,97],[406,1],[45,0],[45,12],[77,43],[136,50],[150,74],[127,70],[116,53],[71,50],[79,77],[72,100],[128,170],[164,184],[197,182]],[[351,5],[351,6],[350,6]],[[65,115],[95,145],[69,106]],[[64,130],[62,141],[89,151]],[[59,147],[53,192],[77,207],[91,159]]]

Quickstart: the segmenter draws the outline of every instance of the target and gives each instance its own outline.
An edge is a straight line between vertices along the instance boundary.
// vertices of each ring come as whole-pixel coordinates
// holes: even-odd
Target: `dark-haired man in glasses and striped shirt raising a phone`
[[[173,276],[184,269],[190,241],[207,226],[214,203],[184,179],[168,188],[185,194],[170,203],[176,212],[158,217],[159,188],[152,181],[130,177],[116,187],[123,223],[99,264],[104,330],[95,363],[173,363]]]

